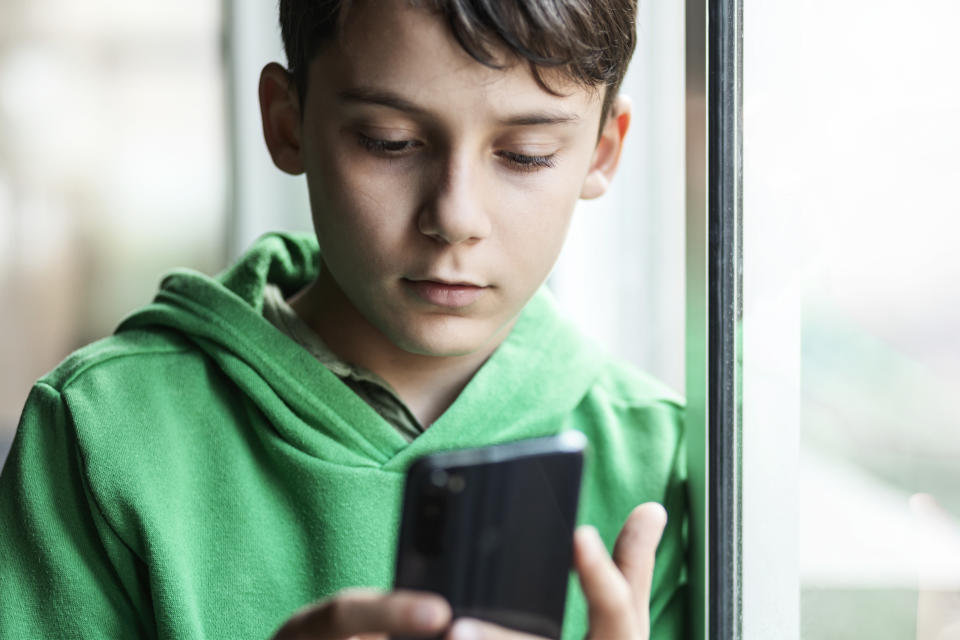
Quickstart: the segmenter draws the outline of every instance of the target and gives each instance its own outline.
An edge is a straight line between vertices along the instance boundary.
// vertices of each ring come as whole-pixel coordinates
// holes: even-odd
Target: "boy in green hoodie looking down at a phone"
[[[415,457],[574,428],[596,530],[565,637],[680,637],[679,404],[538,292],[616,169],[633,3],[280,12],[263,128],[316,237],[174,272],[37,383],[0,479],[0,635],[521,637],[349,588],[389,588]]]

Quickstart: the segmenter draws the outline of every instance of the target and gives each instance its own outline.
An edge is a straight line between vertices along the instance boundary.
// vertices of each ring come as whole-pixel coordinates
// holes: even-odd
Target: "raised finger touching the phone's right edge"
[[[587,599],[592,638],[634,638],[643,627],[630,585],[607,553],[593,527],[578,527],[573,563]]]

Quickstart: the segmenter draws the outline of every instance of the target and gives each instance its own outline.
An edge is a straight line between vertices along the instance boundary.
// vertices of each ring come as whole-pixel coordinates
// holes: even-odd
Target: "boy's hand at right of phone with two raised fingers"
[[[655,502],[630,513],[613,557],[593,527],[574,535],[573,563],[590,608],[590,640],[647,640],[650,637],[650,587],[654,557],[667,524],[667,512]],[[476,620],[458,620],[446,640],[532,640],[533,636]]]

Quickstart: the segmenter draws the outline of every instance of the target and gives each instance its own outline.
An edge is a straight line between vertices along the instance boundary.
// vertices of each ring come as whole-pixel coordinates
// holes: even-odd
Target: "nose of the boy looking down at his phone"
[[[475,242],[490,235],[480,168],[452,154],[438,163],[417,217],[425,236],[444,244]]]

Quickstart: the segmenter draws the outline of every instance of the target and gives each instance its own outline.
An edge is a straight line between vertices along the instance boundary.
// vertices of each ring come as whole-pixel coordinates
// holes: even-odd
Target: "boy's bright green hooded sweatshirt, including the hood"
[[[0,474],[0,637],[267,638],[293,611],[393,579],[403,473],[453,448],[582,431],[579,521],[671,516],[653,637],[682,637],[681,406],[606,359],[548,294],[406,442],[261,315],[316,275],[316,240],[265,236],[216,279],[180,270],[116,334],[37,382]],[[571,579],[565,638],[586,607]]]

